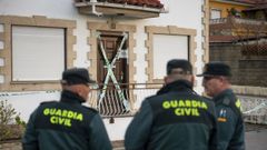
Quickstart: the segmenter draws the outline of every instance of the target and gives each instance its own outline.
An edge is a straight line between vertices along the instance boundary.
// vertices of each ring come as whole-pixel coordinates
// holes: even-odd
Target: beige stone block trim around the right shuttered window
[[[172,34],[172,36],[188,36],[189,37],[189,61],[194,66],[194,72],[196,72],[195,62],[197,60],[196,49],[197,42],[195,41],[195,37],[197,31],[195,29],[186,29],[178,28],[176,26],[167,26],[167,27],[156,27],[156,26],[147,26],[145,28],[148,39],[146,40],[146,47],[148,48],[148,52],[146,54],[146,61],[148,62],[148,67],[146,69],[146,73],[148,76],[148,83],[159,83],[164,82],[162,79],[154,79],[154,34]]]

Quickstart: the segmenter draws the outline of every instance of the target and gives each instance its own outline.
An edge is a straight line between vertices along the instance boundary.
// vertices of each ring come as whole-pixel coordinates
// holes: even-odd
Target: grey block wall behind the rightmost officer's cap
[[[233,84],[267,87],[267,57],[241,54],[241,47],[233,43],[210,43],[210,61],[228,63]]]

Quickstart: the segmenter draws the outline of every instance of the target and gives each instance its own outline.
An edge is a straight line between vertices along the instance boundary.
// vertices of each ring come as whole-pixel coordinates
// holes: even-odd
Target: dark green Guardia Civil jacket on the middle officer
[[[215,106],[180,80],[144,100],[129,124],[126,150],[216,150]]]

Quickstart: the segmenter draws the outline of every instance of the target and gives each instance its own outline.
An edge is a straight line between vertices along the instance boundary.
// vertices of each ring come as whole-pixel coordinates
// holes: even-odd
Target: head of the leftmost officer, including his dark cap
[[[90,91],[90,83],[95,83],[90,79],[89,72],[85,68],[67,69],[62,73],[61,86],[63,90],[70,90],[87,100]]]

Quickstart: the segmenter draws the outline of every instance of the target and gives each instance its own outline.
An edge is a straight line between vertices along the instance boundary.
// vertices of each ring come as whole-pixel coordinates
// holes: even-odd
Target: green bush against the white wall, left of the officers
[[[26,128],[26,122],[21,120],[12,104],[7,100],[0,100],[0,141],[19,139]]]

